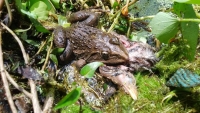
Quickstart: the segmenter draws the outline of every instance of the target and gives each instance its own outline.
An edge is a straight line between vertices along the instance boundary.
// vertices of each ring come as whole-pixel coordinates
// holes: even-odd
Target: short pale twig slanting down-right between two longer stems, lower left
[[[5,71],[6,73],[6,77],[9,80],[9,82],[15,87],[17,88],[19,91],[21,91],[22,93],[24,93],[27,97],[29,97],[30,99],[32,98],[31,93],[29,93],[28,91],[26,91],[24,88],[20,87],[14,80],[13,78],[9,75],[9,73],[7,71]]]

